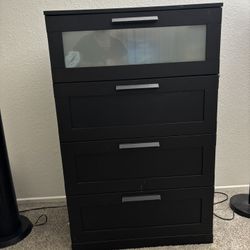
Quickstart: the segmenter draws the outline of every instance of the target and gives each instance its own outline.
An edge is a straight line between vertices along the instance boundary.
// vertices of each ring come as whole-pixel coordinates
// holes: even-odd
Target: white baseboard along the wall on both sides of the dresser
[[[215,186],[215,189],[231,189],[231,188],[247,188],[246,185],[231,185],[231,186]],[[66,202],[66,196],[47,196],[47,197],[29,197],[29,198],[18,198],[17,202],[22,203],[39,203],[39,202]]]

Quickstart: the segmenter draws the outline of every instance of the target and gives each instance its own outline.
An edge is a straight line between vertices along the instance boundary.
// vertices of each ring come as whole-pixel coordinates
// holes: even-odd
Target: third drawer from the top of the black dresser
[[[68,195],[213,185],[215,135],[61,144]]]

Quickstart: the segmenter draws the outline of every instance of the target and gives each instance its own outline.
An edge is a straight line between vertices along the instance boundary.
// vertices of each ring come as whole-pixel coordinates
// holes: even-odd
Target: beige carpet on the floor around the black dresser
[[[247,193],[246,189],[218,190],[228,193]],[[216,195],[215,201],[222,196]],[[22,204],[20,209],[32,206],[60,205],[60,203],[36,203]],[[46,211],[28,212],[26,215],[35,222],[37,217],[45,212],[48,215],[48,223],[44,226],[34,227],[32,233],[22,242],[9,247],[9,250],[64,250],[70,248],[70,235],[66,208],[49,209]],[[215,212],[224,217],[231,217],[232,211],[228,203],[219,204]],[[155,248],[143,248],[144,250],[250,250],[250,219],[235,215],[233,221],[222,221],[214,217],[214,243],[202,245],[164,246]]]

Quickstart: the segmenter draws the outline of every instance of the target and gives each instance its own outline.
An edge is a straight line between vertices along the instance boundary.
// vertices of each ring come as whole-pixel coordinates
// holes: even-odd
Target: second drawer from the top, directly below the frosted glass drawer
[[[217,76],[54,86],[60,139],[215,133]]]

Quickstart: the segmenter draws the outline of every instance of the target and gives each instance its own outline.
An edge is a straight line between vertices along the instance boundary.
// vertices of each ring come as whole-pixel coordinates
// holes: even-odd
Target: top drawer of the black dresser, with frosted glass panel
[[[54,82],[219,72],[220,4],[45,15]]]

